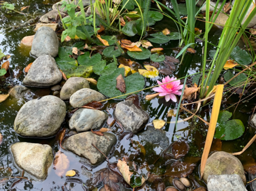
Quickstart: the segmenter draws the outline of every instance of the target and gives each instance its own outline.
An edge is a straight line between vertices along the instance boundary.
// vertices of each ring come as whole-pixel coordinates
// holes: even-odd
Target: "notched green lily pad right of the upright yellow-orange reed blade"
[[[245,126],[239,119],[229,120],[232,113],[229,111],[221,111],[218,117],[218,124],[216,127],[214,137],[220,140],[234,140],[238,139],[245,132]]]

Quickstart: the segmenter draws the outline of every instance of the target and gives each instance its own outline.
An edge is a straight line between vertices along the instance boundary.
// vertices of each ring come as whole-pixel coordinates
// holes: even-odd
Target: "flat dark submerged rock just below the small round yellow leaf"
[[[141,140],[151,144],[158,144],[163,149],[166,149],[169,146],[169,139],[166,136],[166,131],[163,131],[162,129],[147,127],[147,130],[138,133],[138,136]]]

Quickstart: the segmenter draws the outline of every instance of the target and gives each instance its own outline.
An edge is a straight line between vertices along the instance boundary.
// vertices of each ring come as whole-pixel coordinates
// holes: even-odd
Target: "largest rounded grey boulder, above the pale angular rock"
[[[66,104],[52,95],[25,103],[15,118],[14,131],[27,137],[51,137],[59,131],[66,116]]]

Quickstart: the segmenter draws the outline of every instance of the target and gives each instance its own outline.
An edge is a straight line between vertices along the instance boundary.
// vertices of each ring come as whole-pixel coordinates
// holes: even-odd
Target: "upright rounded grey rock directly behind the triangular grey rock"
[[[46,54],[56,57],[59,46],[54,30],[50,27],[40,27],[34,36],[30,54],[36,57]]]

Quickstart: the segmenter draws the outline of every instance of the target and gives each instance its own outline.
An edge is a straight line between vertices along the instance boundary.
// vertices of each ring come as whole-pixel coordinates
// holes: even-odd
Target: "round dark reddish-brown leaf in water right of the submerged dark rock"
[[[174,155],[175,159],[180,159],[187,155],[190,147],[187,144],[187,141],[178,140],[172,145],[172,155]]]

